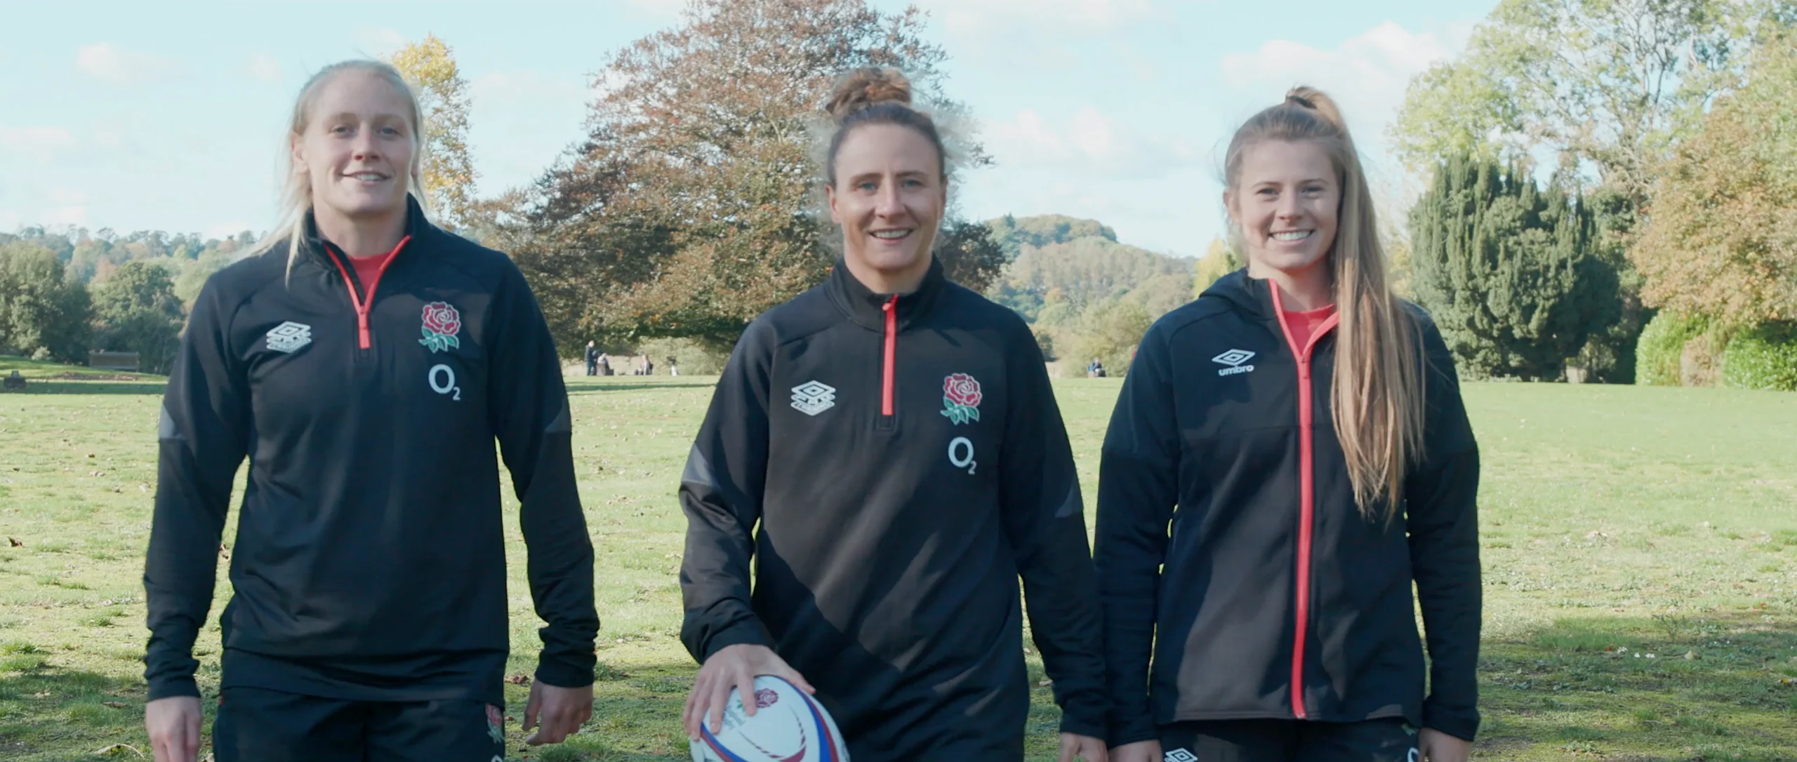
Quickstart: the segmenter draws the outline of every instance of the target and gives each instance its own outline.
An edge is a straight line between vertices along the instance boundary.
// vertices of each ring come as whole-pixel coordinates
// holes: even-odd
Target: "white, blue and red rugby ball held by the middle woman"
[[[694,762],[848,762],[836,721],[796,685],[775,676],[755,678],[755,717],[742,710],[742,692],[730,692],[724,728],[699,728]]]

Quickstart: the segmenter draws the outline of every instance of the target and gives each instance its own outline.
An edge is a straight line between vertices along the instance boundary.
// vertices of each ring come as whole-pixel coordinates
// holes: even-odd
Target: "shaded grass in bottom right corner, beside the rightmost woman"
[[[1797,758],[1797,629],[1765,609],[1488,638],[1481,758]]]

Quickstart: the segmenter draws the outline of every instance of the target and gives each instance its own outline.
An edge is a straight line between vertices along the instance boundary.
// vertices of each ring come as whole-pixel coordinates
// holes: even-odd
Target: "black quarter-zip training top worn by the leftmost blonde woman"
[[[219,622],[225,687],[501,703],[494,439],[548,622],[537,679],[593,681],[593,546],[548,325],[503,253],[431,226],[415,203],[408,234],[365,288],[307,219],[291,273],[277,244],[194,302],[162,406],[144,570],[151,699],[199,696],[194,636],[248,456]]]

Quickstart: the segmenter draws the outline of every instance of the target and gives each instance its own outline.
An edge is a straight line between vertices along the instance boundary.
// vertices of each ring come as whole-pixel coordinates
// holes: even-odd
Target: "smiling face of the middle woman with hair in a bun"
[[[850,270],[915,288],[929,270],[929,246],[949,201],[929,138],[898,124],[855,128],[836,153],[828,194]]]

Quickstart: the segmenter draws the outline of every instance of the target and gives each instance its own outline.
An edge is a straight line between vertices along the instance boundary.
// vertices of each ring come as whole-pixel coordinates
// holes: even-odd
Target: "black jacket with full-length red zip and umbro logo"
[[[1148,329],[1098,489],[1112,744],[1226,719],[1405,717],[1474,737],[1479,449],[1441,334],[1411,315],[1427,417],[1393,521],[1353,501],[1333,331],[1288,336],[1274,288],[1245,271]]]

